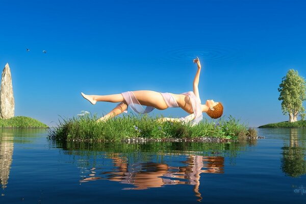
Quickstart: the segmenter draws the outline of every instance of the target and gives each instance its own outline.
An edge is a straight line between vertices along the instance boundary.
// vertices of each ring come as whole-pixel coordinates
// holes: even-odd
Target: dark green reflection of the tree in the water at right
[[[298,129],[290,130],[289,146],[283,148],[282,170],[290,176],[297,177],[306,173],[304,147],[299,145]]]

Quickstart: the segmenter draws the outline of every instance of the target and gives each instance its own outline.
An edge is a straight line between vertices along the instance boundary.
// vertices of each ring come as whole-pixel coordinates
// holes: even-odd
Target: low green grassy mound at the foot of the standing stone
[[[28,127],[48,127],[48,126],[30,117],[16,116],[10,119],[0,119],[0,127],[28,128]]]

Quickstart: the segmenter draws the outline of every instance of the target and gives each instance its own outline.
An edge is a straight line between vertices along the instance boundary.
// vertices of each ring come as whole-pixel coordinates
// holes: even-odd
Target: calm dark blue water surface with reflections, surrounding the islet
[[[306,129],[207,143],[56,143],[0,129],[0,203],[304,203]]]

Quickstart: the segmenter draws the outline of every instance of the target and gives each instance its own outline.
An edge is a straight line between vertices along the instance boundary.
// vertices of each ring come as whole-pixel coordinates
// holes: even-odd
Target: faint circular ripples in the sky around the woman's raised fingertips
[[[239,61],[237,48],[217,46],[189,46],[164,50],[160,62],[162,64],[190,64],[198,57],[206,64],[231,64]]]

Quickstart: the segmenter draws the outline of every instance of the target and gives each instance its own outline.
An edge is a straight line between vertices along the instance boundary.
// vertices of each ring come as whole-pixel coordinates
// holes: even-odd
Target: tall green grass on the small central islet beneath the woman
[[[238,139],[248,134],[247,125],[239,123],[233,117],[215,121],[202,121],[191,126],[178,122],[155,121],[148,115],[117,117],[106,122],[96,122],[96,117],[89,115],[63,119],[49,132],[53,139],[67,141],[120,141],[126,138],[199,138],[215,137]]]

